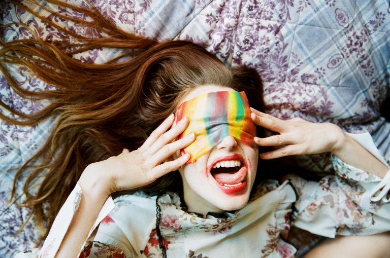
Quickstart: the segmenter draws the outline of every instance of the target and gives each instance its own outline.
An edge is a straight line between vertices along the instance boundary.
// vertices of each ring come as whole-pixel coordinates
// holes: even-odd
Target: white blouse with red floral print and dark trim
[[[383,163],[368,133],[351,135]],[[368,235],[390,231],[390,172],[382,179],[332,156],[336,174],[319,182],[296,175],[260,183],[242,209],[206,217],[186,212],[177,193],[139,192],[109,198],[79,257],[292,257],[281,235],[291,225],[317,235]],[[16,258],[54,257],[78,208],[77,184],[42,249]],[[99,230],[98,230],[99,229]]]

